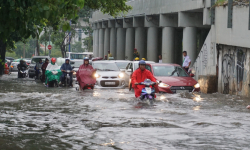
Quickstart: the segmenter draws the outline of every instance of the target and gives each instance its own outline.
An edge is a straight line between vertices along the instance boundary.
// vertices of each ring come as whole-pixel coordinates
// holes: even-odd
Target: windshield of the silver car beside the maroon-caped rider
[[[93,67],[100,71],[119,71],[115,63],[96,62]]]

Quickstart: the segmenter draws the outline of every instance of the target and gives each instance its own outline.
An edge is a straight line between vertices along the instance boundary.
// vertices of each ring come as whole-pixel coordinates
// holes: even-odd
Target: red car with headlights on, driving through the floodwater
[[[166,93],[199,92],[200,85],[194,80],[194,74],[188,74],[177,64],[147,64],[146,69],[151,71],[159,83],[159,91]]]

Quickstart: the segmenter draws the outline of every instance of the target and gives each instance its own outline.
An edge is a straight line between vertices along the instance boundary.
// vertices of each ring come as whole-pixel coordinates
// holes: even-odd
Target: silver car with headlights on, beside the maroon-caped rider
[[[95,88],[124,88],[124,72],[121,72],[114,61],[95,61]]]

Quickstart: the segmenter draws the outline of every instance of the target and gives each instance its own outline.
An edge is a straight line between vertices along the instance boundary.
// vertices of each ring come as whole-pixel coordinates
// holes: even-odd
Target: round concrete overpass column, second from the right
[[[162,62],[174,63],[174,28],[162,29]]]

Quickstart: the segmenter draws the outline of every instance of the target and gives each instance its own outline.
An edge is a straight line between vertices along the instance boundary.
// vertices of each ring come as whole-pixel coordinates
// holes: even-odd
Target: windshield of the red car
[[[155,76],[189,77],[179,66],[153,66]]]

